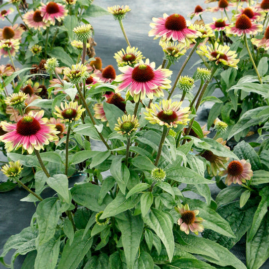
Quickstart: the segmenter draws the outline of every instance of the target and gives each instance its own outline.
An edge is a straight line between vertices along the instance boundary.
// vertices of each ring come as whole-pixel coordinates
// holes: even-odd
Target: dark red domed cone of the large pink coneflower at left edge
[[[39,122],[30,116],[25,116],[17,123],[17,133],[22,136],[30,136],[36,134],[40,130]]]

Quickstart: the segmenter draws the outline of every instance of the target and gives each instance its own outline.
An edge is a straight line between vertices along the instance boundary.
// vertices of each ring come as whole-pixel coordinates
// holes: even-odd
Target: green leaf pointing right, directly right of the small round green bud
[[[205,179],[187,167],[172,167],[166,170],[166,177],[174,181],[186,184],[213,184],[213,181]]]

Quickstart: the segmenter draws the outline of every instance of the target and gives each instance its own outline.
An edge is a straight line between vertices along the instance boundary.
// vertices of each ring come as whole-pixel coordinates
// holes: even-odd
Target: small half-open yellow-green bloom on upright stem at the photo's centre
[[[123,136],[132,135],[139,127],[138,119],[135,115],[123,115],[122,118],[118,119],[118,124],[115,124],[115,131]]]

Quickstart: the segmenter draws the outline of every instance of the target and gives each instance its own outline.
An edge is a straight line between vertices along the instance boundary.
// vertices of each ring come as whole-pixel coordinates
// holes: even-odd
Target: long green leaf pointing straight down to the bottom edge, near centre
[[[141,216],[132,216],[130,211],[125,212],[125,220],[117,219],[122,233],[122,244],[127,268],[132,269],[140,245],[144,223]]]

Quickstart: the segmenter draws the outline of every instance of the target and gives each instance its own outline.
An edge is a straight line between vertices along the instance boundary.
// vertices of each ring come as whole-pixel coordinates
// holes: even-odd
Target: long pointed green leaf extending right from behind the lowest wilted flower
[[[204,219],[202,225],[206,229],[211,229],[222,235],[235,238],[235,235],[229,225],[216,211],[208,208],[205,202],[197,199],[184,198],[186,203],[190,206],[191,210],[198,209],[199,217]]]

